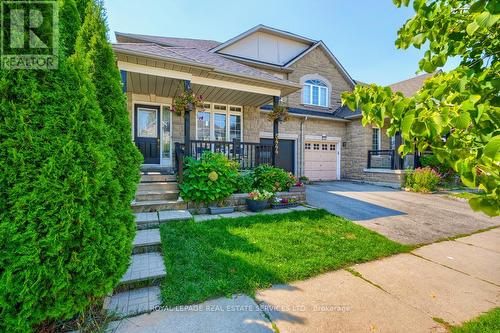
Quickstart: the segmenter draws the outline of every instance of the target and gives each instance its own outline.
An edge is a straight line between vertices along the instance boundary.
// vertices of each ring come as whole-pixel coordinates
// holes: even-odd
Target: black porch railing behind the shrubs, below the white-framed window
[[[273,145],[233,141],[191,140],[189,147],[184,143],[175,143],[175,159],[177,171],[182,170],[185,156],[199,159],[205,151],[222,153],[230,160],[240,164],[242,170],[253,169],[260,164],[272,164]]]

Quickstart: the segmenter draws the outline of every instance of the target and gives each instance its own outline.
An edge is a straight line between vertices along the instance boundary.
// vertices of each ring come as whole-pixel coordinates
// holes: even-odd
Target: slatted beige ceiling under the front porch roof
[[[179,79],[127,72],[127,92],[134,94],[173,97],[180,93],[182,84]],[[202,95],[205,101],[212,103],[261,106],[272,100],[270,95],[202,84],[192,84],[191,88],[196,95]]]

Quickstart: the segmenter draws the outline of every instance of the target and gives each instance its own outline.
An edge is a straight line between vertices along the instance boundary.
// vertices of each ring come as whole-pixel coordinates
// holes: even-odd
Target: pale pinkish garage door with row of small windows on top
[[[337,179],[337,143],[306,141],[304,174],[310,180]]]

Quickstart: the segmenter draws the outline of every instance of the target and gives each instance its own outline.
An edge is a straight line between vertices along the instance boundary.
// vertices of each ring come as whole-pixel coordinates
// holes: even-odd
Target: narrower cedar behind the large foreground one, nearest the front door
[[[81,1],[81,0],[80,0]],[[83,25],[76,41],[76,53],[89,63],[96,87],[97,101],[109,127],[111,148],[115,152],[114,177],[121,186],[123,219],[132,221],[130,202],[134,198],[142,155],[131,140],[127,102],[122,91],[121,75],[107,39],[106,15],[100,1],[88,1]]]

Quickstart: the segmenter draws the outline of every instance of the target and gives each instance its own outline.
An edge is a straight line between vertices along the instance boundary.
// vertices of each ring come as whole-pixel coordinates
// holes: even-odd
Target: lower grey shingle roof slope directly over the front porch
[[[166,47],[155,43],[116,43],[113,44],[116,51],[132,51],[144,55],[162,57],[166,59],[181,60],[201,66],[209,66],[214,69],[230,72],[237,75],[251,76],[256,79],[275,81],[276,83],[296,85],[295,83],[278,78],[267,72],[224,58],[216,53],[203,51],[193,47]]]

